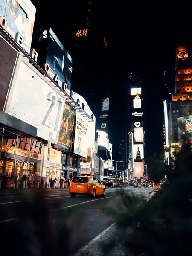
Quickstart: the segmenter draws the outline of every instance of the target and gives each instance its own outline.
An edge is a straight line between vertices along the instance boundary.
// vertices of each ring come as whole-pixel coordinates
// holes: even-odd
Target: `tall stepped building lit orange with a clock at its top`
[[[178,118],[192,114],[192,58],[186,46],[177,46],[175,88],[169,109],[169,144],[178,143]]]

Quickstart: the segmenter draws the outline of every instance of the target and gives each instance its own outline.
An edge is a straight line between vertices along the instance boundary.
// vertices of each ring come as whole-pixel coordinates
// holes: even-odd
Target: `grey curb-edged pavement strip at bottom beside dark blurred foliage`
[[[122,246],[122,231],[119,232],[117,222],[96,236],[84,247],[81,247],[73,256],[127,256]]]

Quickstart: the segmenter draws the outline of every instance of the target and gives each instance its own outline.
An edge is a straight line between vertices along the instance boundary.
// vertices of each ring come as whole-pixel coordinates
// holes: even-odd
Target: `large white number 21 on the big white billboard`
[[[50,92],[48,93],[47,95],[47,100],[48,101],[51,101],[51,105],[42,121],[42,124],[49,127],[49,128],[52,128],[53,124],[51,123],[51,117],[52,117],[52,114],[54,113],[55,111],[55,108],[57,107],[58,105],[58,102],[59,102],[59,105],[58,105],[58,112],[57,112],[57,117],[56,117],[56,120],[55,120],[55,127],[54,127],[54,131],[58,131],[58,129],[60,128],[60,119],[61,119],[61,115],[62,115],[62,111],[63,111],[63,105],[64,105],[64,99],[62,98],[58,98],[57,96],[57,93],[55,92]]]

